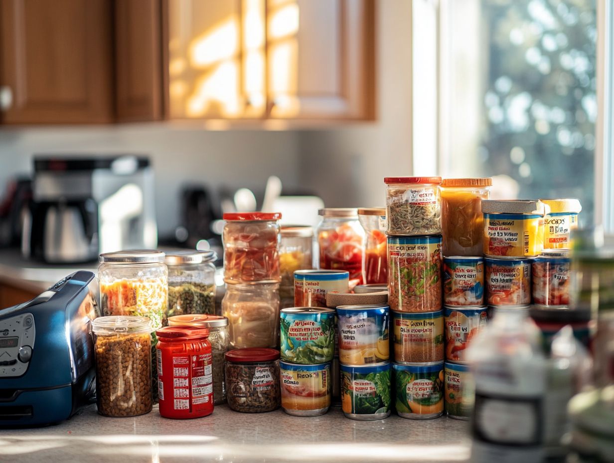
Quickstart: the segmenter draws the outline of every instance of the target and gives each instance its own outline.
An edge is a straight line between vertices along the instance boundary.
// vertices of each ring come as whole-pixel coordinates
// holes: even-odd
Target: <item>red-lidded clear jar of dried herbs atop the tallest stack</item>
[[[386,177],[386,234],[441,234],[441,177]]]

